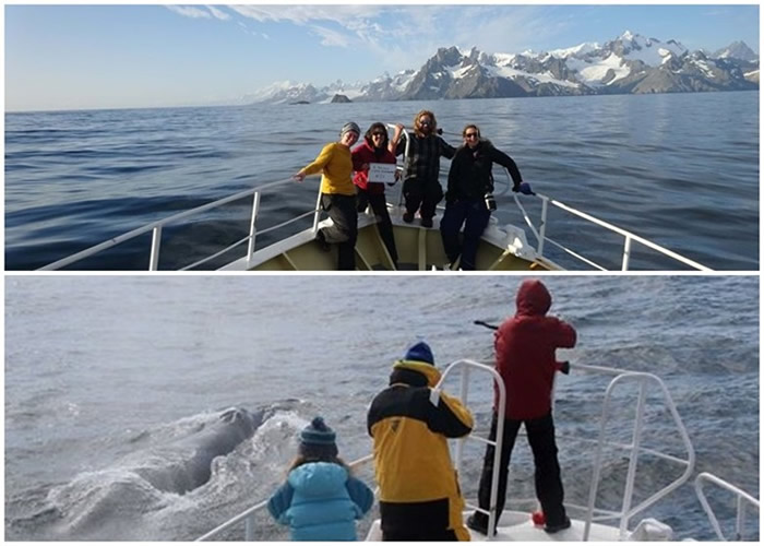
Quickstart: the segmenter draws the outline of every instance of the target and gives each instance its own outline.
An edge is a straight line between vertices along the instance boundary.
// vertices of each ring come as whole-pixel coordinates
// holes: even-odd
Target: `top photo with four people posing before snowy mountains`
[[[759,271],[760,7],[7,5],[7,271]]]

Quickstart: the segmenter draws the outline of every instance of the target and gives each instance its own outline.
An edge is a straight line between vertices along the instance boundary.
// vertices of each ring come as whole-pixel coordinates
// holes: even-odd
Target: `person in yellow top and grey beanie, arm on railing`
[[[319,229],[315,238],[324,250],[329,250],[330,245],[337,245],[337,269],[341,271],[356,269],[358,211],[350,146],[358,142],[360,134],[356,123],[345,123],[339,131],[339,141],[326,144],[313,163],[295,175],[295,179],[301,182],[306,176],[321,173],[321,206],[333,225]]]

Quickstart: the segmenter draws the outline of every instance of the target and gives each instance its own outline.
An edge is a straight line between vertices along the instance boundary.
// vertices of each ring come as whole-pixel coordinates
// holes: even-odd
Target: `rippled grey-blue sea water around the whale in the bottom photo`
[[[366,410],[386,385],[392,363],[418,336],[432,345],[441,368],[464,357],[490,360],[492,334],[473,321],[499,322],[514,312],[521,281],[7,276],[5,538],[200,536],[273,491],[298,430],[315,414],[336,428],[347,460],[365,455],[371,446]],[[578,330],[578,346],[561,358],[661,377],[694,443],[696,472],[759,491],[756,276],[545,282],[552,311]],[[479,376],[476,381],[469,400],[485,432],[490,385]],[[575,370],[558,379],[560,456],[572,503],[587,498],[593,451],[570,436],[595,437],[608,381]],[[625,405],[630,397],[618,400]],[[192,442],[232,405],[268,408],[272,416],[251,440],[215,461],[207,484],[177,495],[140,477],[165,467],[180,443]],[[650,408],[646,423],[646,447],[683,455],[665,411]],[[630,429],[613,426],[610,434],[625,441]],[[598,502],[614,509],[625,463],[619,453],[608,455]],[[468,498],[475,497],[480,464],[481,449],[468,449],[462,474]],[[642,485],[665,485],[679,474],[645,459],[638,495]],[[370,478],[368,471],[360,476]],[[523,440],[511,480],[512,498],[533,498],[533,463]],[[723,503],[719,513],[729,524],[728,499],[717,491],[712,499]],[[713,537],[690,485],[646,515],[672,525],[680,538]],[[757,520],[751,532],[757,537]],[[285,537],[263,514],[258,538]]]

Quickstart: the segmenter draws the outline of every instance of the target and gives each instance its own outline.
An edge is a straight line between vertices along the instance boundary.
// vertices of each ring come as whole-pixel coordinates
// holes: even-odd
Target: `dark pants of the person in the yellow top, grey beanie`
[[[337,270],[354,271],[358,238],[356,195],[322,193],[321,206],[334,223],[330,227],[321,228],[321,237],[330,245],[337,245]]]

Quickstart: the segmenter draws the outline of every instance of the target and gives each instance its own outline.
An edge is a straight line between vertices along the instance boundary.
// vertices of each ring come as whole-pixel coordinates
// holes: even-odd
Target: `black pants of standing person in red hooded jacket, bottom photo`
[[[497,437],[497,414],[493,414],[491,422],[490,439]],[[565,520],[565,509],[562,506],[564,494],[560,479],[560,463],[557,460],[557,443],[554,442],[554,420],[552,414],[545,415],[538,419],[513,420],[504,419],[504,437],[501,450],[501,463],[499,470],[499,490],[497,496],[497,522],[504,511],[506,502],[506,482],[510,472],[510,458],[512,449],[520,431],[520,426],[525,424],[528,434],[528,443],[534,453],[536,473],[534,475],[536,485],[536,497],[541,503],[541,510],[547,518],[549,525],[557,525]],[[484,510],[490,507],[491,496],[491,474],[493,473],[493,446],[486,449],[486,458],[482,463],[482,475],[480,476],[480,488],[478,490],[478,503]],[[480,522],[488,526],[488,515],[476,513]]]

